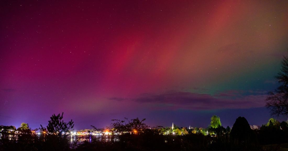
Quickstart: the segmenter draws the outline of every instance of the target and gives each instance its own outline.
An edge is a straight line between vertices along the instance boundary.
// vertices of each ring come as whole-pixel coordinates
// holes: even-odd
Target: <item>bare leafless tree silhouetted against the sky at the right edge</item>
[[[288,58],[284,56],[281,62],[281,70],[275,79],[281,84],[276,90],[270,91],[266,98],[266,107],[271,115],[288,114]]]

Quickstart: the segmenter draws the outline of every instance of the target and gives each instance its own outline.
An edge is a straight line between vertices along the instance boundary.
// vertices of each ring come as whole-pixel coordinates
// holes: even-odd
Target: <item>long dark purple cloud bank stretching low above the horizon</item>
[[[217,94],[167,91],[162,94],[145,93],[137,98],[111,98],[130,100],[148,105],[155,110],[215,110],[245,109],[265,106],[266,92],[230,90]]]

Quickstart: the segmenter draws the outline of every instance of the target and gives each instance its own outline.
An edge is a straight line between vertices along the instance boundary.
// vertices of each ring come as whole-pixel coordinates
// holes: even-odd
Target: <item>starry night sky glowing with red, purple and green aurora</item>
[[[62,112],[78,130],[272,117],[288,1],[4,0],[0,13],[0,125],[35,129]]]

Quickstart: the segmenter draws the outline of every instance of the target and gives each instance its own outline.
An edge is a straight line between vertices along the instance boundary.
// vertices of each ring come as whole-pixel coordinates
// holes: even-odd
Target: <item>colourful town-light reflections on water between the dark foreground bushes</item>
[[[70,141],[71,143],[82,143],[84,141],[92,142],[92,141],[106,141],[106,142],[119,142],[118,136],[112,136],[112,135],[83,135],[83,136],[77,136],[72,135]]]

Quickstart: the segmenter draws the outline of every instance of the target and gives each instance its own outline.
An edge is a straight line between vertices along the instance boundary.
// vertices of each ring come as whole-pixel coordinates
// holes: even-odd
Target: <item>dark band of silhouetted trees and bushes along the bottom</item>
[[[100,138],[91,135],[89,140],[71,142],[72,120],[61,121],[62,115],[54,114],[46,127],[31,130],[22,123],[17,129],[17,137],[10,130],[15,127],[1,127],[0,151],[192,151],[192,150],[280,150],[278,144],[288,143],[288,124],[271,118],[260,129],[252,129],[244,117],[238,117],[232,127],[221,126],[220,118],[213,116],[211,125],[206,129],[185,129],[177,127],[148,127],[138,118],[112,120],[107,129],[111,135]],[[96,127],[92,126],[95,130]],[[231,131],[230,131],[231,130]],[[35,131],[38,133],[35,134]],[[179,133],[179,135],[177,135]],[[276,144],[276,145],[270,145]]]

